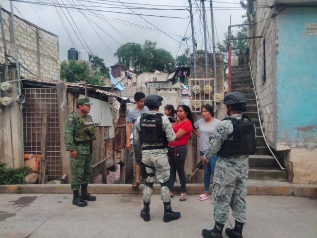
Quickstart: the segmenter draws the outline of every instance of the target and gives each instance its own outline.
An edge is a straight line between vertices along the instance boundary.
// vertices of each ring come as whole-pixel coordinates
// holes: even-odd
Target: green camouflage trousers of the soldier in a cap
[[[77,154],[77,158],[71,158],[71,189],[79,190],[81,184],[90,183],[93,166],[93,152],[89,154]]]

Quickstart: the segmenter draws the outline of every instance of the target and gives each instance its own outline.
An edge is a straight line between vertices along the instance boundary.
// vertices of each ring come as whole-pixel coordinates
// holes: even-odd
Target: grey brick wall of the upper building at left
[[[1,9],[7,54],[15,58],[11,14]],[[15,16],[15,34],[18,60],[24,67],[42,77],[60,78],[58,37],[28,24]],[[9,30],[11,29],[11,30]],[[1,31],[1,29],[0,29]],[[38,35],[38,37],[37,37]],[[0,39],[0,62],[4,63],[2,37]],[[13,59],[10,59],[14,62]],[[21,76],[34,76],[20,67]]]

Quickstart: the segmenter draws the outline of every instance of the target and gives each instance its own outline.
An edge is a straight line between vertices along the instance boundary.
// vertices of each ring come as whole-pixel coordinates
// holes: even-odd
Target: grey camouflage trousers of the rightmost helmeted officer
[[[232,215],[238,222],[245,223],[247,180],[249,168],[232,170],[232,164],[221,158],[217,161],[214,170],[214,180],[212,186],[213,214],[214,220],[220,224],[225,224],[228,218],[229,206]],[[230,168],[231,167],[231,168]]]

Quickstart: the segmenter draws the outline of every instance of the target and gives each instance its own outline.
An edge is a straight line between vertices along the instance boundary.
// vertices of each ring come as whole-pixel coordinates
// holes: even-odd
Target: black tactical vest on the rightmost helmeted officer
[[[223,142],[217,155],[223,158],[233,155],[253,155],[257,151],[257,141],[252,120],[246,115],[242,115],[239,120],[235,118],[224,118],[222,120],[231,120],[233,132]]]

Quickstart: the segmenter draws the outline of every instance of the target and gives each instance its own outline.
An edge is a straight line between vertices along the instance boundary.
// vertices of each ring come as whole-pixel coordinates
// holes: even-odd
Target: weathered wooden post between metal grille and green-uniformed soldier
[[[63,175],[67,174],[67,183],[70,183],[71,182],[70,152],[66,151],[66,146],[64,141],[65,122],[68,117],[68,102],[67,102],[66,85],[64,83],[57,83],[56,91],[57,91],[58,119],[59,119],[61,167],[62,167]]]

